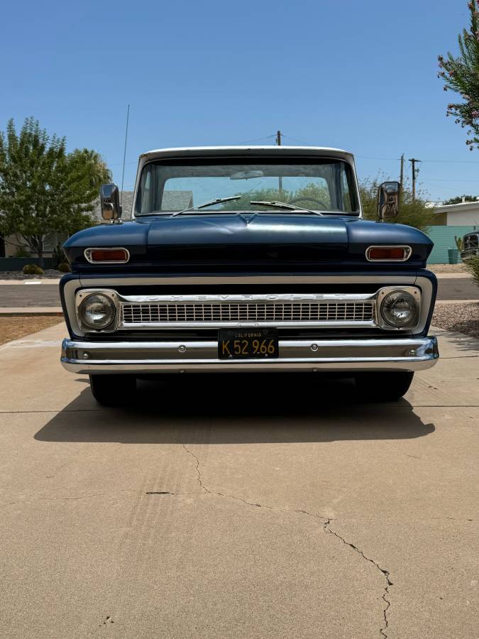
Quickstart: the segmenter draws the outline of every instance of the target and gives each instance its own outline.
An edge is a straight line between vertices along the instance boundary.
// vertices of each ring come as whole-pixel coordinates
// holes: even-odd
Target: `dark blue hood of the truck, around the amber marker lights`
[[[371,245],[411,246],[407,263],[371,263]],[[124,247],[128,264],[94,265],[84,249]],[[402,224],[312,214],[190,214],[149,217],[85,229],[65,242],[74,271],[280,272],[424,268],[432,249],[422,231]]]

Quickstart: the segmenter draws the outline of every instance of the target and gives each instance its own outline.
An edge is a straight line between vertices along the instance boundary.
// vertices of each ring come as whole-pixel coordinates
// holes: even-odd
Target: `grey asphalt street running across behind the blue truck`
[[[438,300],[477,300],[479,288],[468,277],[440,279]],[[0,307],[60,306],[57,284],[0,285]]]

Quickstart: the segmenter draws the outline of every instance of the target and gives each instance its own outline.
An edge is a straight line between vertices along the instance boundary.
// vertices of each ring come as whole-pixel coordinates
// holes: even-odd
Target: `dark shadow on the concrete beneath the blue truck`
[[[424,424],[407,400],[364,403],[351,380],[224,375],[139,381],[134,401],[123,408],[101,407],[86,386],[35,439],[241,444],[414,439],[431,432],[434,425]]]

